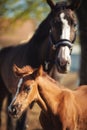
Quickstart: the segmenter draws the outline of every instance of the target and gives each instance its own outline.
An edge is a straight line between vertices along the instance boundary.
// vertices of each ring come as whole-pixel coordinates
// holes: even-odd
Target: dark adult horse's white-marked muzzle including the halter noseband
[[[53,44],[53,48],[57,53],[55,64],[60,73],[67,73],[70,71],[72,46],[73,44],[66,39]]]

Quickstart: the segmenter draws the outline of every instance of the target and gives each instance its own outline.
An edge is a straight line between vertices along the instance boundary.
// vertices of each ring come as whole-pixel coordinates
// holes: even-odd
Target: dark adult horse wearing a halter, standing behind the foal
[[[0,88],[4,91],[0,94],[1,106],[7,95],[6,88],[12,95],[16,92],[19,80],[13,74],[13,64],[19,67],[31,65],[33,68],[42,64],[44,70],[54,79],[59,73],[70,70],[70,55],[76,36],[76,17],[73,10],[78,7],[78,0],[71,5],[65,2],[54,4],[51,0],[47,0],[47,3],[51,12],[39,25],[31,40],[0,51]],[[20,126],[22,130],[23,126]]]

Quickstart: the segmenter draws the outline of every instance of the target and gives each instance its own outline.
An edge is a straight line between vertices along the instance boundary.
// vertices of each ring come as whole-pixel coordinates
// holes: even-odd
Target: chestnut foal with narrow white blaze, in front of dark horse
[[[8,107],[13,117],[19,117],[34,102],[45,113],[40,122],[44,130],[87,130],[87,86],[75,91],[56,83],[42,67],[33,70],[26,66],[14,66],[14,72],[20,76],[15,97]]]

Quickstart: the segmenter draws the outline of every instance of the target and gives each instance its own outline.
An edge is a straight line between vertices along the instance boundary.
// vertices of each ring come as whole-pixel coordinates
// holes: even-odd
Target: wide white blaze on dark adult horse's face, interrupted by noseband
[[[64,18],[65,14],[60,14],[60,19],[62,22],[62,34],[61,39],[70,40],[70,26],[68,24],[67,19]],[[66,63],[71,64],[71,57],[70,57],[70,49],[67,46],[61,46],[59,49],[58,58],[60,60],[60,65],[66,65]]]

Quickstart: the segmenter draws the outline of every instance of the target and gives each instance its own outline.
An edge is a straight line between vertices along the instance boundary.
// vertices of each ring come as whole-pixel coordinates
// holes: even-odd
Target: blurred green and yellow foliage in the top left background
[[[0,10],[2,17],[42,19],[49,7],[45,0],[1,0]]]

